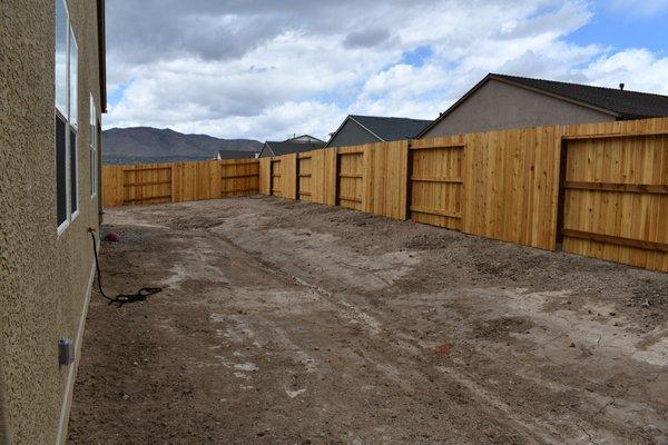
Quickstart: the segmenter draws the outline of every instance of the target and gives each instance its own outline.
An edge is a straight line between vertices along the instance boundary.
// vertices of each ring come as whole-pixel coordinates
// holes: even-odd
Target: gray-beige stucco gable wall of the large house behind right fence
[[[600,111],[490,79],[423,138],[615,120]]]

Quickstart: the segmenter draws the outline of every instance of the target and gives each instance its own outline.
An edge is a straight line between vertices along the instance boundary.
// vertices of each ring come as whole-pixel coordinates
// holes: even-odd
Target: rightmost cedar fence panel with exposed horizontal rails
[[[668,271],[668,136],[568,139],[563,250]]]

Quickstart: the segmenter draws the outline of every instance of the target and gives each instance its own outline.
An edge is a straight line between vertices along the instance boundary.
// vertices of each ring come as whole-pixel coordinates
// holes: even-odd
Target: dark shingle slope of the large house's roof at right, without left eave
[[[490,77],[601,108],[620,119],[668,116],[668,96],[507,75],[492,73]]]

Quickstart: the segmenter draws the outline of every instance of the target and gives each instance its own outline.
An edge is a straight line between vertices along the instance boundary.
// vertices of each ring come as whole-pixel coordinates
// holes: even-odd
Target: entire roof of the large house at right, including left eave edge
[[[475,87],[462,96],[462,98],[452,107],[441,113],[441,116],[429,127],[424,128],[419,137],[426,134],[432,127],[454,111],[454,109],[491,79],[591,108],[613,116],[620,120],[668,116],[668,96],[629,91],[619,88],[592,87],[589,85],[559,82],[556,80],[489,73],[484,79],[478,82]]]

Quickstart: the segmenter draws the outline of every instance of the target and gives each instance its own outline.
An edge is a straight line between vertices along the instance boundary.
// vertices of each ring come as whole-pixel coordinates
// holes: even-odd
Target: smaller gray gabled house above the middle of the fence
[[[412,139],[430,123],[431,120],[350,115],[332,134],[327,147]]]

